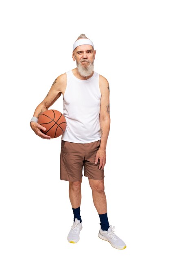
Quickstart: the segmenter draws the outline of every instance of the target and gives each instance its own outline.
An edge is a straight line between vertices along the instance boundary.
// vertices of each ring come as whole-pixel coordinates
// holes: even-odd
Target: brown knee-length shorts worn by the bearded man
[[[61,140],[60,179],[68,181],[81,180],[84,167],[84,176],[94,180],[102,180],[104,168],[99,170],[99,159],[95,164],[100,140],[90,143],[74,143]]]

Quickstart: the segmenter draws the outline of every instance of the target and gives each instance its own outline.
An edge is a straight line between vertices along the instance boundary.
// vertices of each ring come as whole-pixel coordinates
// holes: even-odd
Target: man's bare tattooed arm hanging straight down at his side
[[[99,169],[103,169],[106,164],[106,145],[110,131],[110,105],[109,105],[109,83],[105,77],[99,77],[99,86],[101,91],[100,100],[100,148],[96,153],[95,164],[100,160]]]

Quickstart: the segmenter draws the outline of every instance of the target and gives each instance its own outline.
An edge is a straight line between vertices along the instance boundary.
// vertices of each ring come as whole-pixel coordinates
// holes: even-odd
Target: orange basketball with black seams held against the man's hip
[[[64,115],[54,109],[46,110],[39,115],[38,124],[46,128],[45,131],[41,130],[41,132],[50,136],[52,139],[62,135],[66,128]]]

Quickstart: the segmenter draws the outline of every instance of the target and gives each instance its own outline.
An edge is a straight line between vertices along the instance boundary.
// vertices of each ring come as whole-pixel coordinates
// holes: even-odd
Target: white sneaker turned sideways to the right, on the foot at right
[[[108,241],[111,244],[111,246],[113,246],[116,249],[125,249],[125,243],[122,241],[122,239],[116,236],[116,234],[114,234],[114,229],[115,227],[112,227],[111,225],[107,231],[102,230],[100,227],[98,237]]]

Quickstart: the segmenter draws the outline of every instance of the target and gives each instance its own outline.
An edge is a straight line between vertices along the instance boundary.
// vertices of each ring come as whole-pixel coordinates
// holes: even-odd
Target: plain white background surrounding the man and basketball
[[[169,255],[170,9],[168,1],[2,1],[0,4],[0,255]],[[83,230],[59,178],[61,137],[29,126],[53,81],[73,69],[80,34],[110,85],[105,192],[108,217],[127,245],[98,238],[99,217],[83,178]],[[63,112],[61,96],[51,107]]]

